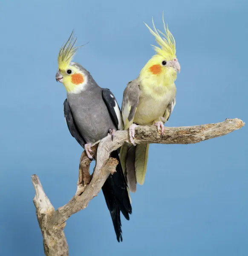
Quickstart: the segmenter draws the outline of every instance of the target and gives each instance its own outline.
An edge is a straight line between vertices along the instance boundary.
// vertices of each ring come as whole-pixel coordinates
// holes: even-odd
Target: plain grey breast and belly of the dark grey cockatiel
[[[109,129],[117,129],[102,98],[101,87],[81,93],[67,93],[74,122],[86,143],[106,137]]]

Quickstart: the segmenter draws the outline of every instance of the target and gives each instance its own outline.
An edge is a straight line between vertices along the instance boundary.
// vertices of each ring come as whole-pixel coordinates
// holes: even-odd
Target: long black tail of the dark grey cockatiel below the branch
[[[132,213],[132,207],[130,204],[130,199],[127,192],[127,183],[121,168],[118,151],[113,151],[110,154],[110,157],[116,158],[119,163],[116,166],[116,172],[113,175],[109,175],[105,181],[102,191],[107,207],[110,211],[116,238],[119,242],[122,241],[120,212],[122,212],[124,217],[129,220],[129,214]]]

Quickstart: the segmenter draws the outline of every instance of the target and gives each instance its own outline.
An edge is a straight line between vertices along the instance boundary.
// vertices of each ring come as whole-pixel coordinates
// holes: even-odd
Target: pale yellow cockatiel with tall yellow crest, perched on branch
[[[164,17],[163,17],[164,23]],[[180,64],[176,58],[176,43],[168,26],[165,32],[153,29],[145,23],[151,34],[155,36],[160,47],[153,46],[154,55],[145,64],[137,79],[130,81],[124,90],[122,101],[122,118],[124,130],[129,129],[130,142],[121,147],[120,158],[130,191],[136,192],[136,183],[144,183],[147,169],[149,144],[134,144],[137,125],[156,125],[161,134],[176,104],[177,71]],[[160,34],[163,36],[161,38]]]

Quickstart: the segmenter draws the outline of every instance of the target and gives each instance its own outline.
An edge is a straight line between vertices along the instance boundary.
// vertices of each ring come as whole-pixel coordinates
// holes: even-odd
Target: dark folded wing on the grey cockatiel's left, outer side
[[[65,99],[63,107],[66,124],[68,126],[70,133],[72,134],[72,137],[74,137],[77,140],[77,142],[84,148],[86,142],[84,138],[81,136],[80,132],[78,131],[78,128],[73,120],[72,112],[67,99]]]

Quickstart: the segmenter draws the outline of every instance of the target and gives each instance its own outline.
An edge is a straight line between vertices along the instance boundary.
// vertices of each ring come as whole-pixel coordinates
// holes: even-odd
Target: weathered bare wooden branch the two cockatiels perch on
[[[220,137],[242,128],[245,123],[240,119],[226,119],[224,122],[187,127],[165,127],[161,135],[155,126],[138,126],[135,130],[135,143],[189,144]],[[82,153],[79,165],[78,187],[76,194],[64,206],[56,211],[45,192],[37,175],[32,175],[35,186],[36,215],[43,235],[46,256],[68,256],[68,245],[63,233],[65,221],[74,213],[87,207],[94,198],[108,175],[115,172],[118,161],[110,153],[129,143],[128,131],[116,131],[114,140],[108,135],[93,144],[93,155],[97,156],[94,174],[89,175],[91,160]],[[96,154],[97,153],[97,154]],[[110,157],[110,158],[109,158]]]

